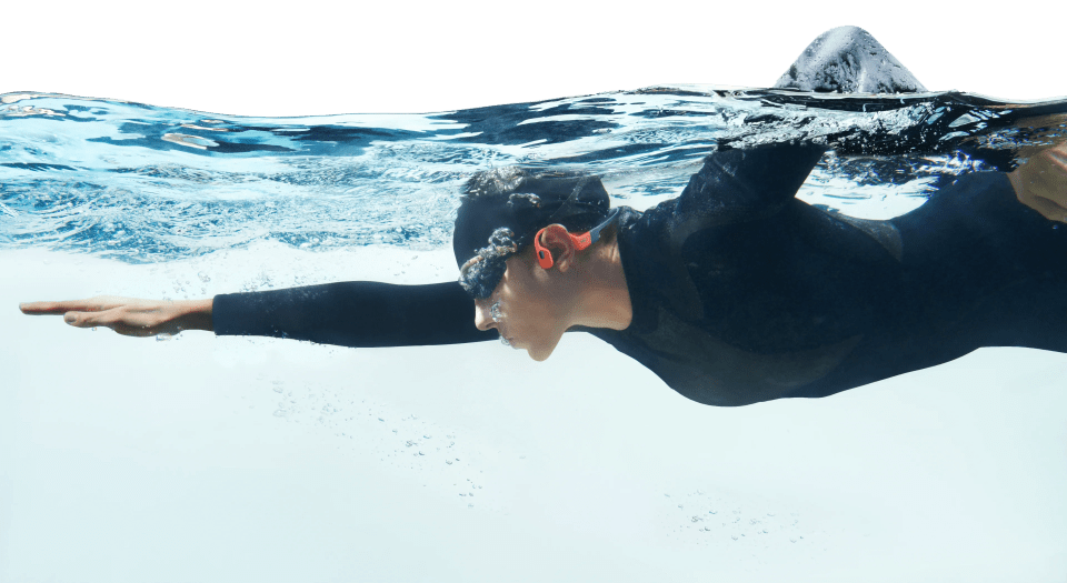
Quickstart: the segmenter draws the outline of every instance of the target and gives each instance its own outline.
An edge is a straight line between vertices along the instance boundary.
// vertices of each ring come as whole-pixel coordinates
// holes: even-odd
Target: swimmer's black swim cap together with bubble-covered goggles
[[[507,259],[542,228],[589,229],[607,214],[608,191],[597,177],[534,173],[516,167],[479,172],[467,181],[456,217],[452,251],[459,282],[485,299],[503,277]]]

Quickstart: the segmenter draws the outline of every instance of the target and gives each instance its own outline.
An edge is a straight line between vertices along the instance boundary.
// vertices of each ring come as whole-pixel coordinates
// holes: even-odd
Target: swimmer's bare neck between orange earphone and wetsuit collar
[[[596,245],[581,265],[572,325],[625,330],[634,319],[618,238]]]

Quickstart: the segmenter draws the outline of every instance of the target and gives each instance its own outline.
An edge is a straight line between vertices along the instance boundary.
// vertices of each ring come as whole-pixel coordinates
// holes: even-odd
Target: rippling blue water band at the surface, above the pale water
[[[460,188],[479,170],[595,172],[614,203],[641,209],[677,195],[718,141],[798,138],[850,144],[824,158],[801,199],[888,218],[921,204],[939,181],[1063,141],[1065,112],[1063,99],[715,86],[302,118],[8,93],[0,96],[0,251],[143,263],[260,240],[310,251],[435,248],[449,243]],[[994,155],[976,157],[975,148]]]

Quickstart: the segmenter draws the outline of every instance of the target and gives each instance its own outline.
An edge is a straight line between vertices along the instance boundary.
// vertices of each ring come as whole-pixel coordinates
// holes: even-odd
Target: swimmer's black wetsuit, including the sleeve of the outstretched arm
[[[1067,352],[1067,225],[1020,204],[1006,174],[964,175],[908,214],[865,221],[794,198],[821,154],[715,152],[677,199],[624,208],[634,321],[580,330],[720,406],[826,396],[980,346]],[[475,328],[458,283],[223,294],[213,324],[346,346],[497,338]]]

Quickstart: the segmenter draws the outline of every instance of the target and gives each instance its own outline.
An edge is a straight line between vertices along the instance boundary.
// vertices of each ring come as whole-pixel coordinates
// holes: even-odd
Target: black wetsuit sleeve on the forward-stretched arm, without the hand
[[[495,340],[475,328],[475,302],[458,282],[352,281],[215,296],[218,335],[309,340],[341,346],[411,346]]]

